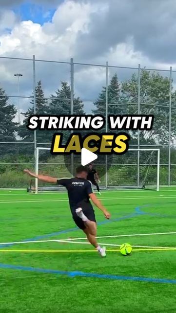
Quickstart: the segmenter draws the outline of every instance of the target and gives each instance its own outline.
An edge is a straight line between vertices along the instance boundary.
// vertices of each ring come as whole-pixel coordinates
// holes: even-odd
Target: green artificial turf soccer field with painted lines
[[[52,241],[84,237],[66,193],[0,191],[0,242],[29,241],[0,245],[0,313],[176,313],[176,187],[98,198],[112,213],[95,209],[104,259],[86,240]],[[125,242],[139,246],[128,257]]]

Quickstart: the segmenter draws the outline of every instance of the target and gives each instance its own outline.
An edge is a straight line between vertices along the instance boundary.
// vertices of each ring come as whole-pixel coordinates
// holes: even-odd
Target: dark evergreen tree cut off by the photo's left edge
[[[17,110],[8,104],[5,90],[0,88],[0,141],[16,141],[17,123],[14,122]]]

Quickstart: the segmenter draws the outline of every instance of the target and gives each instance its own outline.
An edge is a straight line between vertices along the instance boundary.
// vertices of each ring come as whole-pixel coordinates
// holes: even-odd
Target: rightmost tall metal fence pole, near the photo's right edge
[[[168,186],[171,184],[171,116],[172,116],[172,67],[170,67],[169,88],[169,156],[168,156]]]

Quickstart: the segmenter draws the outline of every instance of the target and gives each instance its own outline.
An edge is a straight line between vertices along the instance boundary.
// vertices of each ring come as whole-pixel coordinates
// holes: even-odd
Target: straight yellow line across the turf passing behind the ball
[[[176,251],[176,248],[165,248],[165,249],[159,249],[159,248],[143,248],[143,249],[133,249],[133,252],[135,251]],[[97,252],[96,250],[6,250],[6,249],[0,249],[0,252],[23,252],[23,253],[72,253],[72,252]],[[119,252],[119,249],[108,249],[107,252]]]

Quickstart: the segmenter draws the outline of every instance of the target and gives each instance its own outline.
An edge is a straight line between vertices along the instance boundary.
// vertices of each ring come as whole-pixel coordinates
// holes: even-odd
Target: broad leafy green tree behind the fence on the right
[[[152,131],[140,132],[141,144],[168,143],[169,129],[169,88],[168,77],[158,72],[141,71],[140,76],[140,114],[155,116]],[[133,74],[130,80],[122,83],[122,101],[127,103],[127,114],[138,113],[138,77]],[[133,131],[133,139],[137,139],[137,132]]]

